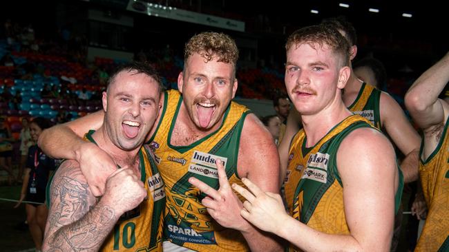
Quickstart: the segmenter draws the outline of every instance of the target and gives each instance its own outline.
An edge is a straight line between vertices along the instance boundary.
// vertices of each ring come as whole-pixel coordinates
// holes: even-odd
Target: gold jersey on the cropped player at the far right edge
[[[449,118],[432,154],[419,161],[419,177],[428,206],[426,224],[415,251],[449,251]],[[423,153],[423,142],[419,156]],[[422,156],[421,156],[422,157]]]

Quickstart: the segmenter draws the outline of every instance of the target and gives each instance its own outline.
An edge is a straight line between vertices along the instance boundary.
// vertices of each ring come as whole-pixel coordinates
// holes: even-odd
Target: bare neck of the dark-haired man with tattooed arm
[[[129,167],[138,169],[139,164],[139,150],[140,148],[135,148],[131,151],[125,151],[124,149],[120,149],[117,147],[112,141],[111,138],[108,137],[106,129],[104,125],[100,127],[93,135],[95,142],[98,147],[104,151],[106,151],[109,156],[111,156],[114,162],[120,167]]]

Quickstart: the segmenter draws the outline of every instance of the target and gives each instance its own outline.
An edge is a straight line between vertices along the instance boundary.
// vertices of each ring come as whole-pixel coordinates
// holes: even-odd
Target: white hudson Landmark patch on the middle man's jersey
[[[217,165],[215,164],[218,158],[222,160],[223,166],[226,167],[227,158],[201,151],[194,151],[190,160],[189,171],[193,174],[209,178],[218,178]]]

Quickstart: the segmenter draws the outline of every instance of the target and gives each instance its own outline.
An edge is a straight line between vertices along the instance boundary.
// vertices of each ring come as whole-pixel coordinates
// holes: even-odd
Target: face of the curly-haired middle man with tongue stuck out
[[[216,56],[207,61],[194,53],[187,59],[184,72],[178,76],[178,88],[184,107],[198,129],[220,125],[238,86],[234,68],[231,63],[218,62]]]

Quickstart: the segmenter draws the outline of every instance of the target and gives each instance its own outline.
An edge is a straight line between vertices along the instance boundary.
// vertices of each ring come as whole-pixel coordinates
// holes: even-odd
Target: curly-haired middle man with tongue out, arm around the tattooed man
[[[236,43],[226,34],[202,32],[188,41],[184,56],[179,91],[162,95],[160,118],[148,138],[166,188],[164,251],[280,250],[240,216],[242,202],[229,186],[250,178],[265,191],[279,190],[271,135],[245,106],[231,102],[238,87]],[[97,112],[49,129],[39,142],[52,156],[90,167],[83,173],[98,194],[116,165],[75,134],[101,123]]]

